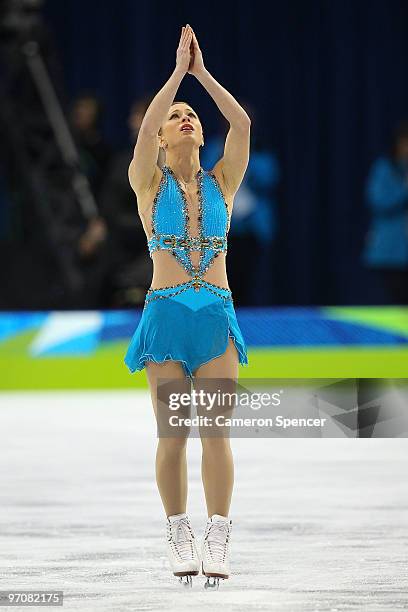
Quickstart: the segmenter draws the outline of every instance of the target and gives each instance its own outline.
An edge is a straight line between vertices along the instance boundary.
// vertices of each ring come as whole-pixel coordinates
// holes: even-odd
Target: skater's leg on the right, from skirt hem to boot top
[[[221,390],[234,393],[238,380],[238,353],[232,338],[229,338],[227,350],[220,357],[212,359],[200,366],[194,373],[194,388],[198,391],[217,393]],[[212,381],[213,379],[213,381]],[[223,379],[223,380],[221,380]],[[215,404],[213,412],[205,408],[197,408],[198,414],[215,416],[221,414],[226,418],[232,415],[233,406],[226,407]],[[234,461],[230,445],[229,428],[223,427],[222,432],[214,428],[200,427],[202,443],[201,475],[203,479],[208,516],[221,514],[228,516],[232,489],[234,486]],[[208,435],[211,433],[212,435]]]

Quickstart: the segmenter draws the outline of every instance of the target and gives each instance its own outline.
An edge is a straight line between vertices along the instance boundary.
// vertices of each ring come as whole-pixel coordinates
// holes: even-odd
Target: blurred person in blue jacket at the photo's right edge
[[[366,198],[363,262],[379,273],[393,304],[408,304],[408,121],[397,126],[390,153],[373,163]]]

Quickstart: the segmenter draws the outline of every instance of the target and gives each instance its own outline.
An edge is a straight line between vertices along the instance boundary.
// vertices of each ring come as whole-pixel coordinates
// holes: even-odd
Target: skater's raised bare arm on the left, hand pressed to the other
[[[159,154],[158,131],[188,70],[191,60],[191,42],[192,29],[187,24],[181,31],[176,67],[167,83],[151,101],[143,117],[129,166],[129,181],[136,194],[145,192],[153,182]]]

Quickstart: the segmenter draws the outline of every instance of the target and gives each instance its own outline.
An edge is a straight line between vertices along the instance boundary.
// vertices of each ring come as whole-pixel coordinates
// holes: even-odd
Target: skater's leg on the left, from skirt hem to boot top
[[[175,381],[177,391],[190,392],[191,383],[180,363],[146,362],[146,373],[152,397],[156,422],[159,425],[157,387],[158,379]],[[160,428],[159,428],[160,430]],[[159,431],[160,433],[160,431]],[[187,505],[187,448],[188,434],[178,437],[160,436],[156,451],[156,482],[166,516],[186,512]]]

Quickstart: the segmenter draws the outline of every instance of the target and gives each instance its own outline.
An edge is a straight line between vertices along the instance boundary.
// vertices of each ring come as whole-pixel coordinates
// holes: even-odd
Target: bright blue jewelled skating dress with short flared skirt
[[[189,232],[187,199],[168,166],[152,207],[150,256],[169,250],[191,277],[184,283],[148,289],[142,317],[125,356],[131,372],[146,361],[179,361],[190,379],[202,364],[225,353],[231,336],[241,365],[248,365],[247,347],[235,314],[231,291],[204,280],[218,253],[227,251],[229,213],[222,190],[212,172],[200,168],[199,236]],[[200,251],[198,266],[190,251]]]

